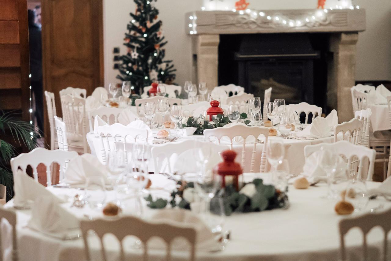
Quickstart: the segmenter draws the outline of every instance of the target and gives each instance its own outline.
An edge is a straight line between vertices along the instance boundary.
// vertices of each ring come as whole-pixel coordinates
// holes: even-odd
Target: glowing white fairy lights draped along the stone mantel
[[[329,9],[318,9],[316,10],[313,14],[308,14],[306,16],[303,16],[301,18],[297,19],[291,19],[283,15],[267,15],[267,11],[256,11],[256,10],[251,10],[251,9],[246,9],[246,10],[236,10],[233,8],[231,12],[233,13],[238,13],[240,15],[248,16],[251,18],[258,18],[258,19],[265,19],[269,23],[274,23],[278,26],[286,26],[286,27],[301,27],[304,26],[308,23],[313,23],[313,22],[322,22],[325,20],[326,15],[329,10],[338,10],[338,9],[360,9],[359,5],[350,5],[348,6],[342,6],[342,5],[335,5],[335,8],[330,7]],[[202,11],[206,11],[206,8],[203,6],[201,7]],[[230,12],[230,8],[228,6],[225,7],[225,10]],[[190,15],[189,16],[189,33],[190,34],[197,34],[197,16]]]

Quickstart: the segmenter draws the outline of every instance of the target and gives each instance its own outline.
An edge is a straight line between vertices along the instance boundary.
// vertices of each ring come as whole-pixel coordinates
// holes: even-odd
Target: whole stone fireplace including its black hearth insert
[[[186,14],[186,21],[193,37],[194,82],[212,89],[230,81],[259,96],[267,86],[273,91],[276,86],[282,93],[289,90],[282,98],[292,103],[337,109],[340,122],[352,119],[355,44],[358,32],[365,30],[365,10],[195,11]],[[307,38],[323,49],[311,49]],[[270,41],[276,40],[280,44],[271,50],[276,45]],[[237,43],[237,52],[223,50],[231,43]],[[251,48],[256,53],[246,54]]]

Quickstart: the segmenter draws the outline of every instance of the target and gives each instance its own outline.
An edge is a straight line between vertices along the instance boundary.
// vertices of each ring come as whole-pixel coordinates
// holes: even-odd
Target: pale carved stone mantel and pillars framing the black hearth
[[[190,19],[193,18],[193,19]],[[337,109],[339,121],[353,117],[350,87],[355,83],[355,44],[366,29],[364,9],[266,10],[249,13],[194,11],[185,14],[185,30],[192,34],[197,82],[212,89],[218,85],[220,34],[332,33],[328,63],[328,105]],[[189,26],[191,25],[191,26]]]

